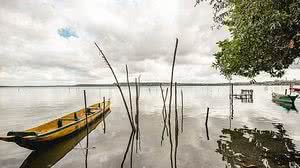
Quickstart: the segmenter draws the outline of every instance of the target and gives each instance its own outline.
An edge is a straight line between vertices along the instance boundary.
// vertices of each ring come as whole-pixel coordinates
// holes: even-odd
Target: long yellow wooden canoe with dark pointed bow
[[[92,124],[98,118],[105,117],[111,110],[110,105],[111,102],[106,101],[105,103],[102,102],[89,106],[87,110],[88,124]],[[85,128],[85,109],[81,109],[25,131],[8,132],[7,136],[0,137],[0,140],[15,142],[19,146],[31,150],[40,150]]]

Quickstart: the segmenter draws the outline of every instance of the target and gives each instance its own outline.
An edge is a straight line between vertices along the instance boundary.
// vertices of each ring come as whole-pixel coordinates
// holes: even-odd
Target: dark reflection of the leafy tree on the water
[[[283,125],[273,125],[276,132],[247,127],[223,129],[216,152],[223,155],[226,167],[297,167],[300,152]]]

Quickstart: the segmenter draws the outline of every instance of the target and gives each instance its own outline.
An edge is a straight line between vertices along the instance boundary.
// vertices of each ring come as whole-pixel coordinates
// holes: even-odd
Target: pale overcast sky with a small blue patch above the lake
[[[0,6],[0,85],[112,83],[97,42],[120,81],[125,64],[142,81],[225,82],[211,68],[216,42],[212,10],[194,0],[9,0]],[[284,78],[296,78],[297,67]],[[269,80],[261,75],[257,80]],[[247,80],[236,77],[235,80]]]

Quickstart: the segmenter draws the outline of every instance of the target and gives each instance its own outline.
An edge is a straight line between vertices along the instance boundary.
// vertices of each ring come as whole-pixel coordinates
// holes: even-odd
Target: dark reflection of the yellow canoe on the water
[[[110,113],[106,113],[106,116]],[[89,125],[89,133],[93,131],[99,123],[103,120],[103,117],[96,118],[95,121]],[[30,155],[24,160],[20,168],[48,168],[52,167],[61,158],[63,158],[68,152],[70,152],[84,137],[86,136],[86,130],[82,129],[76,132],[72,136],[38,151],[32,151]],[[85,149],[86,153],[88,148]]]

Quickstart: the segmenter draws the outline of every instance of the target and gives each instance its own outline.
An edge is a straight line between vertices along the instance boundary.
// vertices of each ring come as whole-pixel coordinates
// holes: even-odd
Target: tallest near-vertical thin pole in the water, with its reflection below
[[[177,46],[178,46],[178,39],[176,38],[174,57],[173,57],[173,63],[172,63],[172,71],[171,71],[170,100],[169,100],[169,114],[168,114],[169,139],[170,139],[170,145],[171,145],[171,151],[170,151],[171,168],[173,168],[173,157],[172,157],[172,155],[173,155],[173,142],[172,142],[172,129],[171,129],[172,88],[173,88],[173,74],[174,74],[174,66],[175,66],[175,60],[176,60]]]

